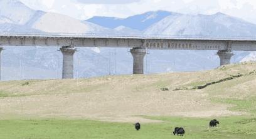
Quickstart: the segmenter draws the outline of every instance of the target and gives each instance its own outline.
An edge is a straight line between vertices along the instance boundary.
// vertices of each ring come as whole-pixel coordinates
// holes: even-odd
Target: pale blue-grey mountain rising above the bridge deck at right
[[[168,16],[152,24],[144,34],[171,36],[255,36],[256,24],[222,13]]]

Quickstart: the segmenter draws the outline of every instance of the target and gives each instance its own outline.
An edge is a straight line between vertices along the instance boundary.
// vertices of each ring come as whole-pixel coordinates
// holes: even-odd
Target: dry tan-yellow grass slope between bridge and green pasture
[[[147,116],[240,115],[230,105],[212,103],[211,98],[247,98],[256,95],[256,63],[241,63],[211,71],[161,75],[105,76],[81,80],[0,82],[0,116],[92,118],[135,121]],[[204,85],[232,75],[240,78],[208,86],[203,90],[175,88]],[[168,88],[169,91],[161,91]]]

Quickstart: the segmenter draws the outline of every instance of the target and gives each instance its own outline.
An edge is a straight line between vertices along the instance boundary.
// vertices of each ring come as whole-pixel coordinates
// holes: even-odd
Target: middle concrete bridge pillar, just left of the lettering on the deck
[[[133,61],[133,74],[144,73],[144,56],[146,55],[146,49],[132,48],[131,49]]]

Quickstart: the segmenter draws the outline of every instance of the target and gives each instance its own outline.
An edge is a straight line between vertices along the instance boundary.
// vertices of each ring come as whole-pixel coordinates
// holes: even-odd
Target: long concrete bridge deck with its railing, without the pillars
[[[0,46],[73,46],[256,51],[255,37],[0,33]]]

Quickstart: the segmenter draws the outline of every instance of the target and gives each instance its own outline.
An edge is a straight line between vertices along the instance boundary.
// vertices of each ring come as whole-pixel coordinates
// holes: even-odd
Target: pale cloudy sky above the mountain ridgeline
[[[127,18],[147,11],[166,10],[183,14],[218,12],[256,24],[255,0],[20,0],[33,9],[55,12],[77,19],[93,16]]]

